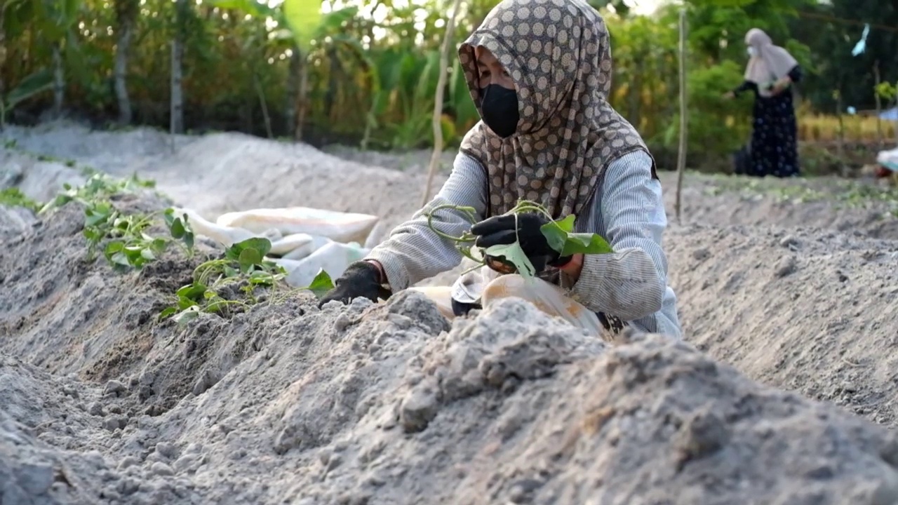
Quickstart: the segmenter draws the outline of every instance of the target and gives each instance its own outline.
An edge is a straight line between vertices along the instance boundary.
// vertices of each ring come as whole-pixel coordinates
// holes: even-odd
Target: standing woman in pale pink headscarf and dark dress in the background
[[[751,158],[747,174],[758,177],[798,175],[795,107],[790,84],[801,80],[801,67],[786,49],[774,46],[767,33],[753,28],[745,34],[748,65],[745,80],[729,98],[752,90]]]

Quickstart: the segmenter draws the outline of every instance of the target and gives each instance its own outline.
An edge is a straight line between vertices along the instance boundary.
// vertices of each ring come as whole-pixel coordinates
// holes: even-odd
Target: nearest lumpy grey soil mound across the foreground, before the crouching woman
[[[898,500],[893,434],[663,336],[607,348],[514,299],[446,332],[413,292],[247,316],[251,359],[114,430],[109,387],[4,359],[4,502]]]

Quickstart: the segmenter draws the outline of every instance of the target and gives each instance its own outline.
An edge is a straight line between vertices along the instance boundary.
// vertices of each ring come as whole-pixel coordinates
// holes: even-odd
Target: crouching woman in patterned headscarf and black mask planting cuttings
[[[451,289],[429,290],[444,314],[515,296],[598,332],[631,325],[679,337],[661,185],[639,134],[607,102],[612,58],[599,13],[584,0],[504,0],[459,58],[481,121],[462,139],[452,174],[425,208],[350,265],[321,305],[385,298],[457,266],[453,242],[427,225],[431,209],[452,204],[482,220],[471,227],[461,211],[443,208],[434,213],[437,230],[457,237],[471,228],[481,247],[516,237],[539,275],[484,267],[482,281],[469,274]],[[559,257],[540,231],[547,218],[519,215],[515,230],[515,217],[501,216],[519,199],[556,219],[574,215],[575,231],[602,235],[614,253]]]

